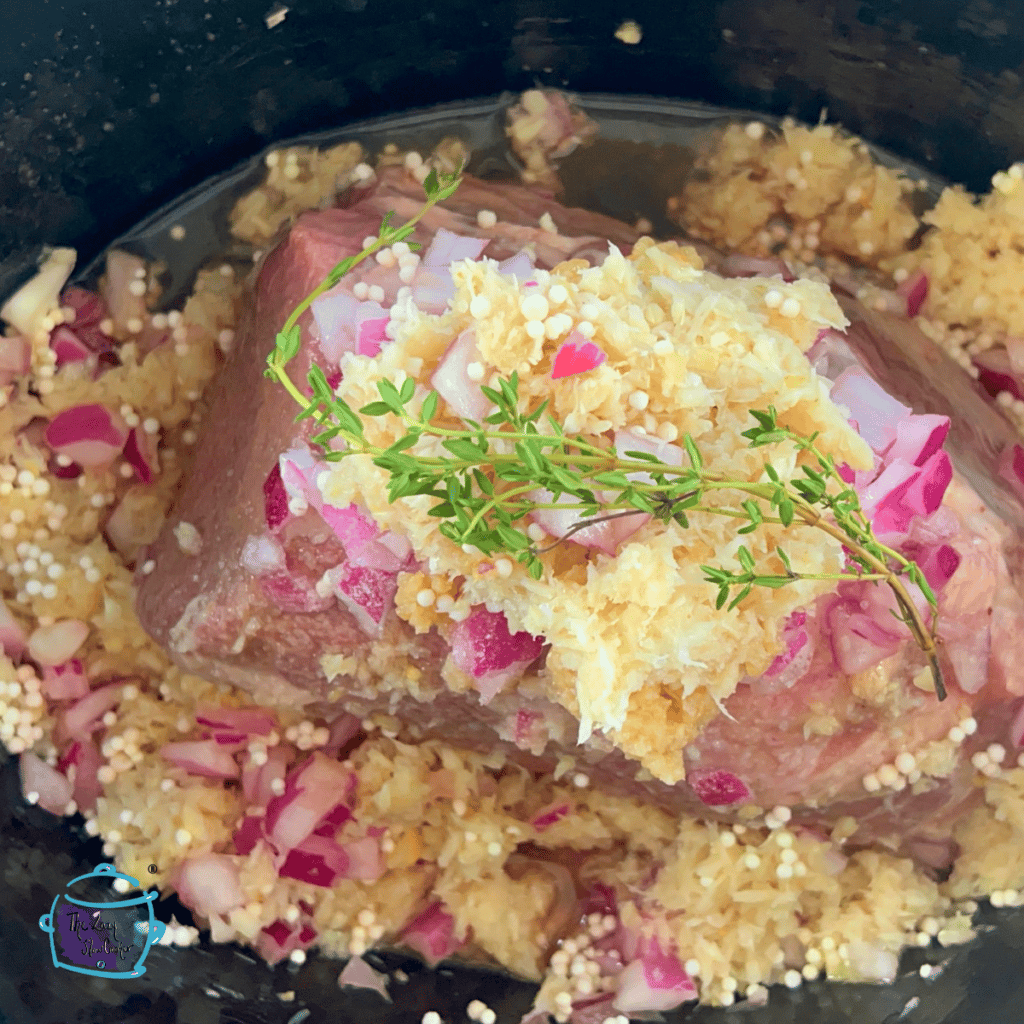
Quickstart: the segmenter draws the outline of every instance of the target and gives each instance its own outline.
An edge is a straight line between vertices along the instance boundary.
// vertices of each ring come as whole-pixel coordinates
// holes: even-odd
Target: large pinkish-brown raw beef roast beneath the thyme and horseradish
[[[834,397],[849,406],[871,441],[877,469],[903,467],[907,487],[941,476],[948,426],[945,447],[955,472],[941,508],[890,524],[940,589],[944,701],[931,690],[913,642],[887,632],[887,612],[874,605],[887,588],[843,585],[792,616],[785,653],[761,678],[743,681],[722,714],[680,751],[688,780],[669,786],[638,776],[637,765],[600,735],[578,746],[578,723],[558,705],[515,689],[484,702],[476,690],[446,688],[440,670],[451,656],[447,641],[435,631],[417,635],[387,613],[396,570],[408,564],[400,544],[378,546],[376,564],[364,558],[354,566],[362,573],[354,578],[365,577],[383,595],[379,616],[366,613],[366,601],[346,604],[316,588],[327,570],[346,565],[346,548],[315,508],[295,504],[282,479],[280,457],[301,452],[307,433],[294,422],[285,390],[264,379],[264,360],[295,304],[376,233],[386,211],[394,210],[400,222],[419,209],[421,195],[401,173],[386,172],[348,207],[300,217],[266,259],[214,386],[191,474],[148,552],[156,568],[139,577],[145,628],[181,666],[234,683],[258,700],[301,702],[328,720],[383,712],[412,736],[501,748],[538,770],[571,755],[593,785],[686,814],[728,819],[741,808],[750,817],[751,805],[784,807],[794,822],[816,829],[849,816],[856,824],[844,835],[853,845],[881,843],[935,867],[947,864],[955,852],[950,823],[980,799],[972,756],[996,743],[1016,757],[1020,738],[1012,725],[1024,703],[1024,603],[1016,585],[1024,509],[1012,462],[1024,452],[1014,447],[1013,429],[974,382],[908,321],[844,298],[852,322],[847,335],[825,334],[809,357],[837,380]],[[494,211],[497,224],[478,226],[479,210]],[[532,226],[546,212],[557,233]],[[483,255],[498,260],[531,247],[541,267],[579,256],[600,261],[609,240],[628,250],[637,238],[625,224],[565,209],[544,194],[471,178],[428,214],[415,238],[426,246],[441,228],[486,240]],[[510,270],[531,265],[517,258]],[[403,286],[399,267],[360,264],[343,283],[351,310],[367,302],[360,283],[383,291],[379,326]],[[421,269],[411,287],[421,308],[443,308],[443,274]],[[350,316],[349,348],[387,343],[364,331],[372,313]],[[335,342],[325,340],[323,325],[308,314],[303,324],[293,378],[304,378],[310,359],[330,376],[337,371]],[[881,436],[867,438],[868,427]],[[869,495],[869,479],[857,485]],[[886,514],[898,520],[898,511],[890,507]],[[372,671],[341,670],[329,680],[321,664],[327,651],[372,651]],[[408,671],[410,664],[416,672]]]

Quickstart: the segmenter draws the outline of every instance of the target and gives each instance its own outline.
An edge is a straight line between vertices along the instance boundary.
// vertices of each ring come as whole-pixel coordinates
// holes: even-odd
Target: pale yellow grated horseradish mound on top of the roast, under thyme
[[[631,428],[670,442],[689,433],[716,471],[755,480],[766,459],[792,474],[799,458],[781,444],[752,450],[740,436],[751,408],[771,404],[788,428],[818,432],[819,447],[837,463],[871,466],[866,443],[804,356],[820,330],[847,324],[823,285],[719,278],[701,269],[691,249],[648,239],[630,257],[611,247],[599,267],[571,260],[537,270],[529,287],[502,275],[488,259],[456,263],[452,272],[457,292],[449,311],[425,314],[409,300],[392,310],[394,343],[375,358],[345,355],[339,397],[358,408],[378,397],[379,381],[400,386],[415,376],[418,409],[449,345],[472,328],[481,382],[518,372],[521,408],[550,399],[567,431],[596,438]],[[552,380],[554,353],[573,329],[607,359],[589,373]],[[402,433],[393,417],[366,424],[374,444]],[[441,450],[437,438],[421,437],[410,452]],[[705,513],[693,514],[685,530],[648,522],[615,557],[562,545],[540,581],[515,563],[511,572],[487,571],[490,559],[440,535],[438,520],[427,514],[433,500],[389,504],[387,481],[370,456],[353,455],[322,473],[318,484],[329,504],[358,503],[382,529],[408,537],[441,589],[458,593],[446,613],[434,614],[440,632],[470,606],[486,604],[503,611],[513,631],[543,636],[551,647],[542,679],[550,697],[579,717],[580,741],[600,730],[670,783],[684,777],[680,752],[716,706],[779,652],[782,621],[835,587],[801,580],[778,590],[756,588],[741,606],[716,610],[699,566],[738,565],[736,551],[745,542],[759,563],[778,562],[773,571],[781,571],[772,552],[782,527],[737,537],[733,522]],[[841,545],[819,531],[790,530],[785,549],[798,572],[842,568]],[[400,602],[398,613],[414,617]],[[415,616],[422,627],[423,609]]]

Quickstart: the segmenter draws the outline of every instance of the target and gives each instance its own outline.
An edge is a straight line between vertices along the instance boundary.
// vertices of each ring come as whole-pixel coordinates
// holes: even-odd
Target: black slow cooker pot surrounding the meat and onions
[[[536,83],[807,121],[826,108],[830,120],[974,189],[1024,157],[1021,0],[286,3],[4,0],[0,295],[29,274],[41,245],[74,246],[87,261],[273,141]],[[614,38],[627,17],[642,27],[638,45]],[[154,946],[137,979],[57,971],[40,913],[100,859],[98,841],[24,804],[8,760],[0,772],[0,1024],[419,1024],[428,1010],[462,1024],[473,998],[517,1024],[529,1005],[528,986],[400,958],[389,963],[411,977],[392,984],[391,1005],[340,991],[334,962],[271,971],[232,947]],[[166,912],[158,905],[158,916]],[[767,1009],[743,1017],[1020,1024],[1024,916],[989,910],[983,919],[992,927],[971,946],[931,954],[946,962],[935,980],[920,977],[926,954],[913,953],[892,986],[810,984],[775,992]],[[282,991],[294,991],[294,1001],[282,1001]]]

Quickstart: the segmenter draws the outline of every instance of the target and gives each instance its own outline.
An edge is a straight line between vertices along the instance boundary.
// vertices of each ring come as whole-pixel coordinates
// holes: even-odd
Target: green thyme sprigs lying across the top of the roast
[[[689,526],[688,515],[692,513],[727,516],[737,520],[739,535],[753,534],[766,523],[819,529],[844,546],[848,556],[846,571],[795,571],[785,552],[776,548],[774,554],[784,571],[766,572],[743,546],[737,552],[738,572],[700,566],[705,579],[717,588],[716,606],[732,610],[755,587],[777,589],[797,580],[885,583],[899,608],[893,614],[907,626],[925,652],[936,693],[944,699],[935,636],[937,601],[921,568],[874,537],[856,492],[842,478],[833,457],[817,447],[817,434],[805,437],[788,430],[779,424],[772,408],[752,410],[755,426],[742,436],[751,447],[785,442],[806,453],[810,465],[802,466],[801,474],[793,479],[783,478],[768,462],[761,480],[725,478],[705,467],[689,435],[682,438],[688,466],[670,466],[647,453],[620,453],[580,434],[569,436],[547,413],[547,401],[529,411],[520,409],[515,373],[500,379],[497,388],[481,387],[497,407],[494,414],[482,423],[464,420],[463,427],[457,429],[433,422],[438,396],[430,392],[421,401],[412,379],[404,380],[400,388],[381,381],[377,385],[379,400],[355,411],[334,394],[324,372],[314,366],[308,374],[312,397],[302,394],[284,369],[298,351],[298,317],[302,311],[360,259],[408,237],[416,221],[435,203],[451,196],[458,184],[458,174],[438,180],[432,172],[425,183],[427,205],[417,216],[399,228],[389,228],[386,217],[374,245],[339,263],[328,280],[299,304],[278,335],[276,347],[267,358],[267,376],[280,380],[302,407],[298,419],[312,419],[319,426],[311,440],[324,450],[324,458],[338,462],[353,455],[369,455],[374,465],[390,476],[389,501],[413,495],[433,498],[435,505],[430,515],[442,520],[438,529],[443,537],[485,555],[508,554],[535,580],[545,571],[542,555],[579,530],[623,516],[646,513],[683,528]],[[389,447],[369,443],[362,418],[389,416],[396,417],[406,432]],[[449,457],[412,454],[409,450],[421,437],[440,439]],[[340,449],[332,444],[338,439],[343,441]],[[538,489],[550,492],[551,501],[531,497]],[[553,544],[538,548],[522,528],[523,519],[537,509],[571,509],[584,518]],[[931,612],[929,622],[914,605],[905,581],[925,595]]]

